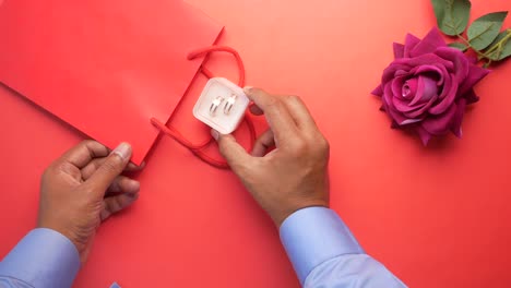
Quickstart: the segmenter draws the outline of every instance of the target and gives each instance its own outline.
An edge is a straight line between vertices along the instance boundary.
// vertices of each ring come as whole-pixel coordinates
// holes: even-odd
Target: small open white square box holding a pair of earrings
[[[236,101],[226,113],[225,105],[233,95],[236,95]],[[219,97],[223,98],[223,101],[212,115],[210,111],[212,104]],[[250,100],[241,87],[226,79],[213,77],[207,81],[201,96],[197,100],[193,107],[193,116],[219,133],[230,134],[243,119],[249,103]]]

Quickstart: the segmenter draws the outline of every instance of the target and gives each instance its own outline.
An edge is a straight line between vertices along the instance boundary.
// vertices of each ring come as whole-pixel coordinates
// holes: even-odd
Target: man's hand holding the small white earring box
[[[264,113],[270,129],[252,155],[234,136],[212,131],[230,168],[277,227],[300,208],[328,206],[329,143],[307,107],[296,96],[273,96],[259,88],[245,93],[257,105],[251,112]]]

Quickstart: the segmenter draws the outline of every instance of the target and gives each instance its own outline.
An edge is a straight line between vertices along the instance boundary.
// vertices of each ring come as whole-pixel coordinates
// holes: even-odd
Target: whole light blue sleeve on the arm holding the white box
[[[297,211],[284,220],[280,232],[304,287],[406,287],[364,252],[332,209]]]

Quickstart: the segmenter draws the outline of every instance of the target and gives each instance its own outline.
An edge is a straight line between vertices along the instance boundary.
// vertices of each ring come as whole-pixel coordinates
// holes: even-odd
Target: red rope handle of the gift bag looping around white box
[[[188,55],[188,59],[192,60],[192,59],[195,59],[197,57],[206,56],[207,53],[214,52],[214,51],[229,52],[235,57],[236,62],[238,64],[238,71],[239,71],[238,85],[240,87],[245,86],[245,67],[243,67],[243,62],[241,61],[241,57],[239,57],[239,53],[235,49],[233,49],[230,47],[211,46],[211,47],[197,49],[197,50],[191,51]],[[210,70],[207,70],[205,67],[201,67],[201,72],[209,79],[214,77],[213,73]],[[253,127],[252,120],[250,119],[250,117],[248,115],[245,116],[243,122],[247,123],[247,127],[249,129],[250,148],[252,148],[253,143],[255,142],[255,129]],[[211,157],[210,155],[207,155],[205,152],[203,152],[203,149],[205,147],[210,146],[214,142],[213,137],[210,137],[204,143],[193,144],[189,140],[187,140],[181,133],[179,133],[179,131],[177,131],[175,128],[166,127],[165,123],[161,122],[159,120],[157,120],[155,118],[151,118],[151,123],[154,127],[156,127],[157,129],[159,129],[166,135],[168,135],[171,139],[176,140],[182,146],[189,148],[193,153],[193,155],[195,155],[198,158],[200,158],[204,163],[206,163],[206,164],[209,164],[209,165],[211,165],[213,167],[221,168],[221,169],[228,169],[229,168],[229,165],[225,160],[215,159],[215,158]]]

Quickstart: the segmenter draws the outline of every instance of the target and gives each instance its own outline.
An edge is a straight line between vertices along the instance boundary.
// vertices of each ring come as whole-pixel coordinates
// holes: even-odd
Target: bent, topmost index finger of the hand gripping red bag
[[[86,140],[66,152],[59,158],[59,161],[70,163],[81,169],[85,167],[92,159],[97,157],[105,157],[107,155],[108,148],[106,146],[96,141]]]

